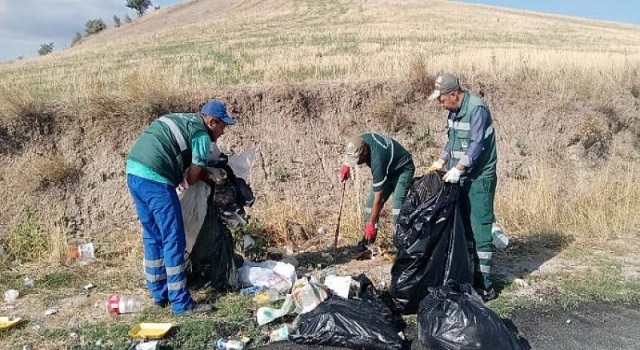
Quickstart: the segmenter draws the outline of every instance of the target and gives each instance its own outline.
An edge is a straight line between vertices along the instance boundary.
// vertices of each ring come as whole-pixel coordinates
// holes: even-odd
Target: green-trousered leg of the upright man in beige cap
[[[467,188],[470,207],[469,218],[478,254],[478,268],[482,274],[482,285],[487,291],[492,288],[491,260],[494,247],[491,239],[491,225],[495,219],[493,199],[496,182],[496,178],[476,180],[471,182]]]

